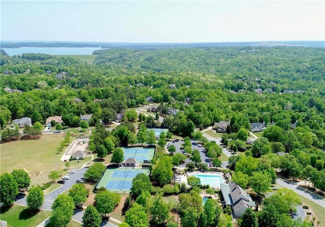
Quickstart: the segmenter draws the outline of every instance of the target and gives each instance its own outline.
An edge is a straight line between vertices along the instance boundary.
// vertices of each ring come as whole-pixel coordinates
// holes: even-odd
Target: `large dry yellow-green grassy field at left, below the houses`
[[[57,153],[57,148],[63,139],[63,134],[43,135],[39,140],[20,140],[1,144],[0,173],[23,169],[32,175],[30,185],[42,185],[48,182],[47,176],[52,170],[59,171],[62,175],[67,174],[64,163],[60,161],[67,147]],[[79,163],[77,160],[71,161],[70,170],[80,168],[87,160],[90,160],[90,157],[79,160]],[[39,174],[34,176],[36,172]]]

